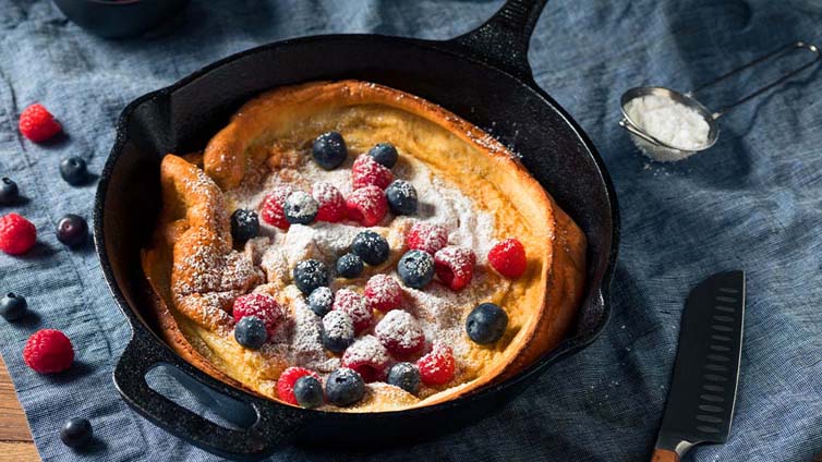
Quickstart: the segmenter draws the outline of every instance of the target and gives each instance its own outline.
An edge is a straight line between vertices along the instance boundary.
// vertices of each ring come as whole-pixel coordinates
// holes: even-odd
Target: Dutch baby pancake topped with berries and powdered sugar
[[[166,155],[160,180],[143,250],[160,331],[246,391],[428,405],[516,374],[576,318],[579,227],[504,145],[419,97],[277,88],[202,154]]]

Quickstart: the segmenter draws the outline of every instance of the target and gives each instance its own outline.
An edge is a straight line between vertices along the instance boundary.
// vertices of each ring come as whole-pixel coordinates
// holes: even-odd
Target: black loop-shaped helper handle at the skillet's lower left
[[[231,429],[208,421],[180,406],[146,381],[154,367],[174,367],[193,384],[207,388],[210,396],[235,402],[256,413],[256,422],[247,428]],[[305,424],[305,413],[220,386],[210,377],[194,379],[193,367],[181,362],[165,344],[152,338],[145,329],[134,328],[134,335],[114,366],[113,379],[125,402],[153,424],[206,451],[233,460],[259,460],[290,442]],[[202,385],[201,385],[202,384]],[[219,390],[219,391],[218,391]],[[192,390],[196,391],[196,390]],[[205,391],[205,390],[201,390]]]

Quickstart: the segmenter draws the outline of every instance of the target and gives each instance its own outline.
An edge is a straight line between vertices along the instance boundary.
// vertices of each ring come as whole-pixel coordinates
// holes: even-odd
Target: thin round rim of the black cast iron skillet
[[[253,397],[252,394],[243,390],[234,389],[233,387],[230,387],[227,384],[219,382],[213,379],[210,376],[203,373],[202,370],[188,365],[188,363],[184,360],[182,360],[182,357],[180,357],[177,354],[177,352],[174,352],[166,342],[161,341],[157,337],[157,335],[137,317],[137,315],[131,308],[129,302],[125,300],[114,278],[113,269],[109,262],[108,251],[106,248],[105,240],[104,240],[104,231],[102,231],[104,219],[105,219],[104,210],[105,210],[105,203],[106,203],[106,193],[108,191],[111,173],[114,169],[116,163],[119,161],[120,156],[123,155],[122,149],[126,141],[128,125],[129,125],[129,120],[132,113],[143,102],[153,100],[153,99],[160,99],[160,98],[168,97],[171,93],[176,92],[178,88],[183,87],[190,84],[191,82],[194,82],[195,80],[211,72],[213,70],[220,68],[225,64],[228,64],[230,62],[237,61],[239,59],[242,59],[249,54],[257,53],[257,52],[277,48],[277,47],[287,47],[287,46],[297,45],[297,44],[311,44],[315,41],[328,41],[328,40],[359,40],[359,41],[364,41],[364,42],[372,42],[375,38],[380,39],[380,40],[386,40],[386,41],[395,41],[395,42],[403,44],[407,46],[409,45],[415,46],[418,48],[422,48],[427,51],[444,52],[444,53],[451,54],[458,59],[471,61],[471,63],[474,65],[487,68],[492,70],[493,72],[503,73],[507,75],[508,77],[515,80],[516,82],[520,83],[522,86],[527,87],[529,90],[531,90],[531,93],[533,93],[534,96],[536,96],[539,99],[542,99],[544,104],[548,105],[552,109],[556,110],[563,117],[565,123],[568,124],[568,126],[570,126],[573,130],[575,134],[582,141],[583,145],[589,150],[591,157],[593,158],[596,165],[600,178],[603,180],[605,184],[606,195],[607,195],[607,199],[611,206],[611,221],[612,221],[611,251],[609,251],[609,255],[607,259],[607,265],[605,267],[605,270],[603,271],[603,275],[600,281],[600,287],[599,287],[599,293],[602,297],[602,303],[603,303],[603,313],[602,313],[603,319],[596,329],[594,329],[592,332],[589,332],[585,337],[582,337],[582,338],[573,337],[573,338],[564,340],[551,353],[544,355],[539,361],[534,362],[533,364],[531,364],[530,366],[528,366],[520,373],[513,375],[512,377],[499,384],[485,387],[481,390],[472,392],[466,397],[460,397],[456,400],[450,400],[450,401],[446,401],[438,404],[433,404],[433,405],[423,406],[423,408],[415,408],[415,409],[410,409],[410,410],[383,412],[380,414],[399,414],[399,413],[422,414],[422,413],[427,413],[427,412],[438,412],[440,410],[458,405],[458,403],[459,405],[470,403],[471,401],[474,401],[484,397],[486,393],[496,393],[505,388],[509,388],[513,386],[515,384],[518,384],[519,381],[531,377],[532,375],[536,373],[541,373],[542,368],[546,366],[546,363],[554,362],[561,357],[568,356],[571,353],[580,350],[581,348],[590,344],[600,336],[602,330],[604,330],[604,328],[606,327],[608,318],[611,316],[609,287],[611,287],[611,280],[613,278],[614,267],[615,267],[616,257],[617,257],[618,241],[619,241],[619,212],[618,212],[619,208],[616,202],[616,193],[614,191],[613,183],[605,168],[604,161],[600,157],[593,144],[584,134],[584,132],[577,125],[577,123],[566,113],[566,111],[553,100],[553,98],[551,98],[544,90],[542,90],[539,86],[536,86],[536,84],[533,83],[532,80],[531,82],[524,81],[520,77],[513,76],[512,74],[508,72],[505,72],[504,70],[500,70],[496,66],[482,62],[479,59],[475,59],[470,56],[466,56],[461,52],[457,52],[452,49],[449,49],[448,48],[449,44],[447,41],[395,37],[395,36],[379,35],[379,34],[333,34],[333,35],[299,37],[299,38],[292,38],[292,39],[276,41],[271,44],[266,44],[259,47],[254,47],[254,48],[231,54],[229,57],[215,61],[191,73],[190,75],[181,78],[180,81],[176,82],[172,85],[148,93],[133,100],[131,104],[129,104],[125,107],[125,109],[123,109],[118,120],[117,137],[114,141],[114,145],[109,154],[109,158],[107,159],[106,165],[100,174],[100,181],[98,183],[97,193],[95,197],[95,211],[94,211],[95,246],[97,248],[97,254],[100,259],[100,267],[102,269],[104,277],[106,278],[106,282],[109,285],[109,290],[111,291],[112,296],[117,301],[120,307],[120,311],[123,312],[123,314],[125,314],[130,320],[130,324],[132,327],[132,338],[135,336],[135,332],[134,332],[135,329],[143,329],[144,332],[153,337],[153,340],[160,343],[162,348],[165,348],[169,353],[171,353],[171,356],[174,357],[178,363],[182,363],[185,366],[186,373],[194,375],[194,377],[201,382],[209,384],[211,387],[218,386],[217,387],[218,390],[220,388],[222,389],[231,388],[232,390],[237,390],[243,393],[246,398],[253,398],[255,401],[259,400],[257,397]],[[180,364],[176,364],[176,366],[180,366]],[[285,405],[273,400],[263,400],[263,401],[265,403],[273,404],[273,405]],[[311,413],[311,414],[324,414],[324,415],[330,414],[338,418],[346,418],[346,417],[358,418],[358,416],[370,414],[370,413],[340,414],[336,412],[315,411],[315,410],[302,410],[302,411]]]

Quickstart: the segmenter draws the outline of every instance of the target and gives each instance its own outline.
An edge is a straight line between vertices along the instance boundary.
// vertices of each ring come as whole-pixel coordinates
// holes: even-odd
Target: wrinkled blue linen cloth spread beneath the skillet
[[[43,459],[216,459],[154,427],[114,390],[110,374],[130,331],[92,245],[69,251],[55,236],[63,214],[90,218],[95,191],[61,181],[61,157],[81,156],[99,172],[130,100],[230,53],[323,33],[449,38],[499,4],[194,0],[173,27],[110,41],[68,22],[51,2],[3,1],[0,174],[16,180],[27,200],[2,212],[32,219],[38,244],[23,257],[0,255],[0,290],[25,295],[36,313],[0,323],[0,350]],[[822,41],[820,24],[817,0],[552,0],[531,65],[597,146],[621,206],[607,330],[504,411],[452,436],[371,457],[286,448],[273,460],[646,460],[684,299],[703,277],[742,268],[749,300],[734,428],[727,443],[699,447],[690,460],[809,461],[822,450],[819,68],[723,118],[715,147],[675,165],[642,157],[616,122],[631,86],[687,90],[797,38]],[[704,102],[722,106],[779,68],[735,80]],[[68,136],[35,145],[19,135],[17,117],[34,101],[57,114]],[[68,373],[40,376],[23,364],[26,338],[47,327],[74,342]],[[89,450],[60,442],[57,430],[71,416],[92,420]]]

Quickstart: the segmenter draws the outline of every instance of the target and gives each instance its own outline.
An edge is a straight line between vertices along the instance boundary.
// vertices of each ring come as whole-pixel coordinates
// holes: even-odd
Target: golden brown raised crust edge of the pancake
[[[269,165],[287,162],[288,159],[276,161],[268,159],[267,156],[271,154],[261,149],[259,146],[270,144],[278,136],[287,134],[295,124],[306,120],[312,113],[373,106],[411,113],[445,129],[471,147],[459,153],[455,151],[447,159],[431,157],[422,160],[430,163],[437,172],[445,174],[449,169],[454,170],[455,165],[459,166],[462,170],[450,179],[466,189],[472,186],[463,183],[464,179],[461,177],[479,177],[488,181],[488,187],[494,189],[493,194],[487,193],[487,197],[482,191],[472,191],[470,194],[473,194],[475,198],[487,200],[489,206],[498,203],[498,208],[510,208],[510,211],[497,212],[508,214],[504,216],[524,221],[522,233],[530,238],[527,241],[527,248],[531,258],[529,272],[523,278],[539,281],[535,290],[527,288],[510,295],[523,305],[518,309],[524,311],[528,316],[521,316],[519,330],[511,333],[511,338],[506,343],[505,358],[507,361],[497,361],[492,367],[483,368],[482,376],[462,386],[445,389],[419,404],[427,405],[457,398],[500,378],[509,377],[556,346],[567,335],[581,299],[585,271],[585,238],[505,146],[438,106],[415,96],[370,83],[356,81],[312,83],[278,88],[255,98],[243,106],[232,118],[231,123],[208,144],[204,153],[204,170],[222,191],[231,190],[242,182],[249,169],[256,168],[266,160]],[[227,265],[227,259],[231,259],[229,256],[234,252],[231,250],[226,206],[219,204],[221,200],[221,194],[218,194],[219,189],[197,184],[198,180],[202,180],[197,177],[198,171],[200,169],[195,166],[174,156],[167,156],[164,159],[161,171],[164,212],[160,226],[164,232],[157,233],[155,244],[149,252],[156,252],[158,259],[168,257],[168,254],[162,255],[157,250],[161,247],[158,241],[165,241],[166,245],[174,242],[171,287],[174,289],[196,287],[196,290],[189,292],[171,290],[169,295],[174,301],[174,307],[184,317],[201,327],[214,330],[225,326],[221,320],[223,316],[218,314],[204,318],[203,304],[214,305],[217,299],[215,293],[225,293],[226,296],[222,300],[232,300],[237,292],[247,291],[256,280],[240,278],[243,282],[237,283],[235,280],[223,281],[211,278],[206,281],[210,283],[200,281],[197,285],[189,280],[190,275],[186,275],[186,271],[202,270],[202,268],[180,267],[180,263],[184,262],[186,256],[191,256],[192,250],[198,248],[201,244],[216,250],[217,257],[213,260],[217,262],[216,265],[222,269]],[[205,196],[205,198],[196,199],[200,196]],[[505,197],[508,198],[507,202],[500,200]],[[180,221],[183,221],[182,224]],[[237,265],[237,262],[233,264]],[[144,266],[152,265],[150,258],[144,258]],[[156,268],[152,272],[155,271]],[[146,273],[149,273],[149,270]],[[154,281],[153,285],[155,285]],[[208,301],[204,301],[203,292],[210,294]],[[209,309],[209,313],[215,312]],[[220,313],[226,315],[221,309]],[[183,357],[211,376],[237,386],[238,380],[231,379],[219,369],[219,366],[215,367],[209,362],[208,352],[203,354],[202,345],[193,346],[186,339],[185,332],[176,328],[174,323],[180,320],[180,316],[174,316],[169,309],[161,307],[158,308],[158,314],[164,319],[161,329],[167,340]],[[479,361],[488,357],[482,352],[478,354],[480,354]],[[383,409],[388,408],[367,408],[372,411]]]

